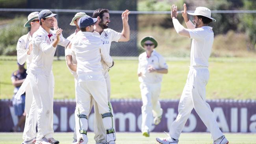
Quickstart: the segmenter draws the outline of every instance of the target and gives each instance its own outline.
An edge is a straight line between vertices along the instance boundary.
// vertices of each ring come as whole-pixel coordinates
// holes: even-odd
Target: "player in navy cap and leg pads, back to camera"
[[[87,144],[87,118],[90,113],[90,103],[93,97],[98,104],[98,111],[102,116],[105,127],[106,143],[115,144],[115,130],[113,129],[112,116],[108,105],[108,93],[106,81],[103,75],[100,60],[103,59],[106,64],[113,66],[113,59],[108,52],[102,48],[100,35],[93,35],[94,23],[97,18],[85,16],[79,19],[80,30],[72,41],[71,50],[76,55],[78,82],[76,85],[76,106],[79,110],[80,134],[77,135],[78,143]],[[78,129],[77,129],[78,131]]]

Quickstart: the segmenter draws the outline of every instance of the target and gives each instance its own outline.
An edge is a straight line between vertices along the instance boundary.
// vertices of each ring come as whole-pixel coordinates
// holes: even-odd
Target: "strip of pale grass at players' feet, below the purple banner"
[[[71,144],[73,133],[54,133],[60,144]],[[256,144],[255,133],[226,133],[229,144]],[[94,133],[88,133],[88,144],[95,144]],[[146,138],[141,133],[117,133],[116,144],[159,144],[156,137],[166,137],[164,133],[150,133]],[[1,144],[20,144],[22,133],[0,133]],[[179,144],[212,144],[210,133],[182,133]]]

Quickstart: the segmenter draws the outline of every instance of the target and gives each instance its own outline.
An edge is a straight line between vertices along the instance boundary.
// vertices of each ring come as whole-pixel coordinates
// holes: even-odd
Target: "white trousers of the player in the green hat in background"
[[[152,116],[158,117],[163,114],[161,104],[158,101],[161,92],[161,83],[141,83],[141,98],[142,98],[142,124],[141,131],[150,131],[152,126]]]

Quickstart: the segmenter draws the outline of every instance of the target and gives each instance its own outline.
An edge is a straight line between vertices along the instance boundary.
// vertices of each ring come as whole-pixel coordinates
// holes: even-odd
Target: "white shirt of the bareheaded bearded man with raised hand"
[[[102,31],[102,33],[100,34],[100,39],[102,40],[103,48],[107,50],[108,54],[110,54],[111,42],[112,41],[118,42],[121,35],[122,33],[114,31],[110,28],[104,29]],[[102,63],[103,69],[105,71],[108,71],[109,70],[108,65],[106,65],[106,63],[103,60],[101,60],[101,63]]]

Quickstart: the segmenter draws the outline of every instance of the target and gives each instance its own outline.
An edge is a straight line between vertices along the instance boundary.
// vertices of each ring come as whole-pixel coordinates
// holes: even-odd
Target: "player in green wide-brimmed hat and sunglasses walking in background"
[[[161,91],[161,81],[163,74],[168,73],[168,66],[165,59],[153,50],[158,45],[152,36],[141,39],[141,47],[145,52],[139,55],[139,65],[137,75],[139,76],[141,98],[142,124],[141,132],[145,137],[149,137],[152,126],[152,116],[154,124],[158,125],[161,121],[163,109],[158,101]]]

